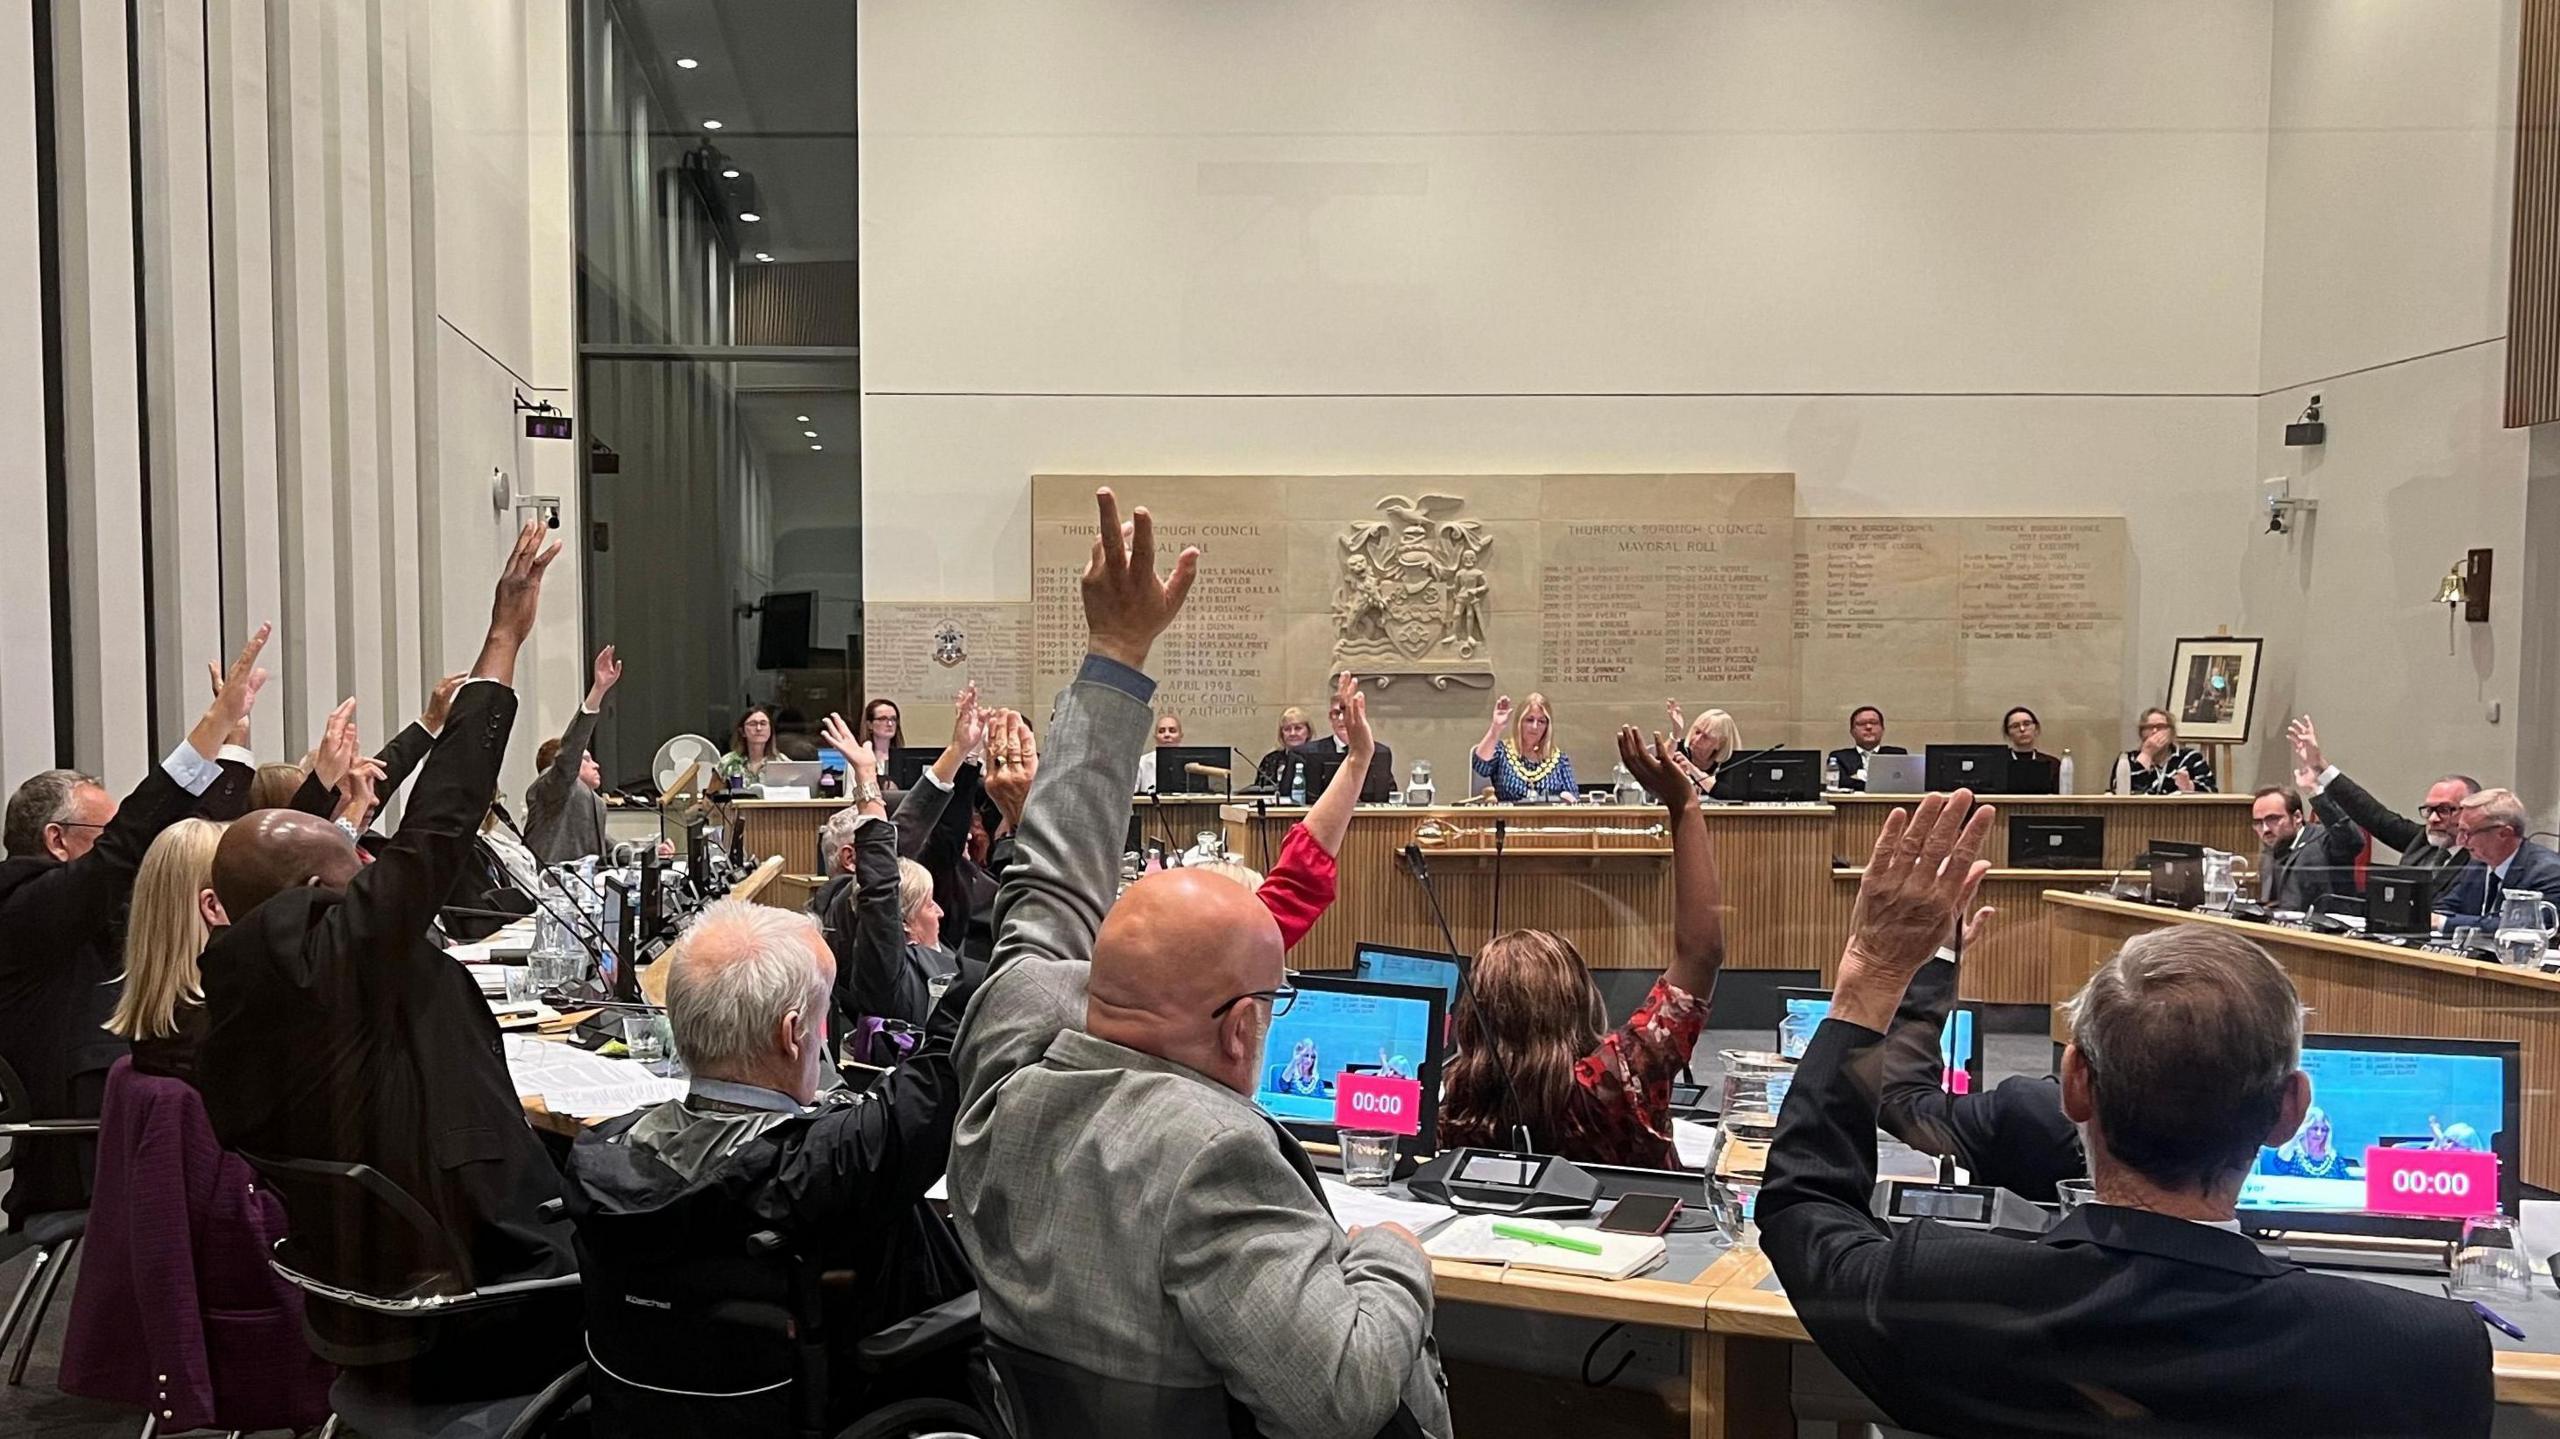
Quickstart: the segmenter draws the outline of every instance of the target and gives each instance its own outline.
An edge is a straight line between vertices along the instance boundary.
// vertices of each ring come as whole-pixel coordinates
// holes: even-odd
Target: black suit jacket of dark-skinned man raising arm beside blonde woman
[[[466,684],[410,814],[343,891],[289,888],[205,950],[197,1086],[225,1150],[374,1165],[456,1242],[474,1283],[566,1273],[535,1211],[558,1173],[507,1078],[497,1022],[428,927],[471,860],[515,725],[515,691]],[[294,1214],[338,1273],[410,1255]],[[315,1234],[317,1229],[317,1234]]]

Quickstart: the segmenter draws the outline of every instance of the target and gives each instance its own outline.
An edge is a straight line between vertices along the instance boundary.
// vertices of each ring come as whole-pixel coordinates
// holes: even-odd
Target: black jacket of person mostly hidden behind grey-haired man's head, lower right
[[[2079,1127],[2063,1116],[2063,1086],[2051,1075],[2012,1075],[1979,1093],[1946,1093],[1938,1045],[1956,965],[1930,960],[1902,991],[1884,1034],[1884,1093],[1876,1124],[1923,1155],[1953,1155],[1974,1183],[2053,1201],[2058,1180],[2089,1173]]]

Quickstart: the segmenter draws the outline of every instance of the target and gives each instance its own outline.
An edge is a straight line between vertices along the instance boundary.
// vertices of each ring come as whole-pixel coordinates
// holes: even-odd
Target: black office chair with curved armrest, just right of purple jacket
[[[376,1383],[381,1365],[435,1347],[448,1321],[579,1288],[579,1275],[479,1285],[471,1262],[410,1191],[371,1165],[241,1155],[284,1201],[292,1234],[269,1267],[305,1296],[302,1331],[338,1365],[330,1406],[369,1439],[486,1434],[535,1395],[417,1401]],[[550,1211],[556,1211],[553,1201]]]

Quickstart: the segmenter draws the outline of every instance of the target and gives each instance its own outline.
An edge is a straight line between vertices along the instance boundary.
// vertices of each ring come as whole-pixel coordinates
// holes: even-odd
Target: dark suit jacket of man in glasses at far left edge
[[[133,871],[161,830],[197,809],[156,763],[87,855],[0,860],[0,1057],[18,1070],[36,1119],[97,1114],[108,1068],[125,1042],[102,1029],[125,973],[125,904]],[[87,1209],[95,1145],[20,1139],[13,1147],[10,1221],[54,1209]]]

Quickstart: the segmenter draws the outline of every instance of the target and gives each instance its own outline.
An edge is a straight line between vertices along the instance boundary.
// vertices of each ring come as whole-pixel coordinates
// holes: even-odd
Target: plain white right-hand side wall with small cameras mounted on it
[[[2447,771],[2514,784],[2560,735],[2519,704],[2527,645],[2560,627],[2527,625],[2529,446],[2499,428],[2516,5],[2273,13],[2255,463],[2319,515],[2248,543],[2245,632],[2271,658],[2260,730],[2309,712],[2330,758],[2404,804]],[[2314,392],[2330,443],[2286,448]],[[2499,551],[2488,625],[2429,604],[2473,545]],[[2248,778],[2284,778],[2281,745],[2253,750]]]

